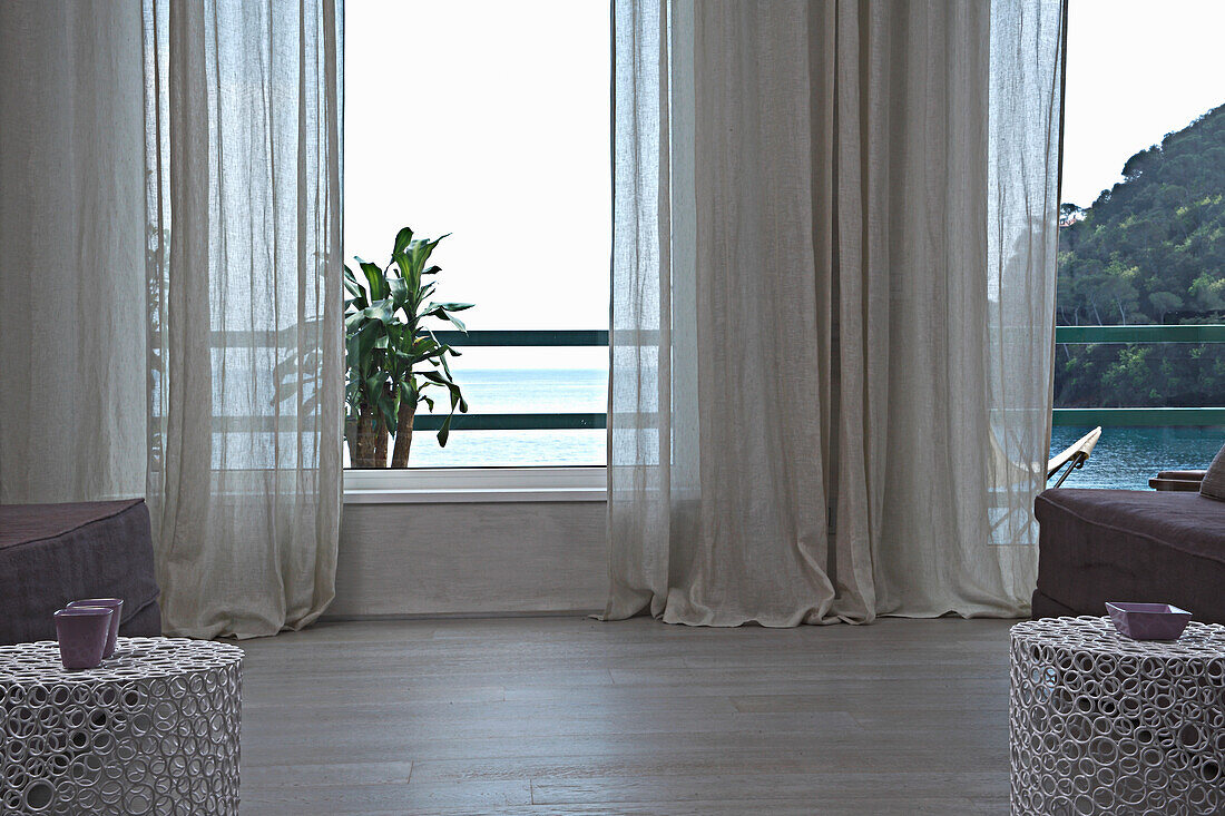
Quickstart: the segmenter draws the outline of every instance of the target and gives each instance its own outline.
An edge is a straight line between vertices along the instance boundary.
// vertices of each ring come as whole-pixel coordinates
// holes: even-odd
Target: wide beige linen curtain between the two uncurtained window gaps
[[[1062,21],[614,2],[605,618],[1028,610]]]

